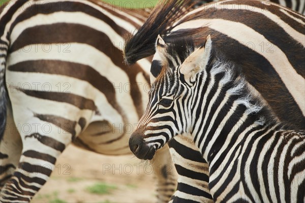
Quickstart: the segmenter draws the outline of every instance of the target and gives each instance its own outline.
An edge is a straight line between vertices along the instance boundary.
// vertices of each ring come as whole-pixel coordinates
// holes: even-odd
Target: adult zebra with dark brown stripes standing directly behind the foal
[[[243,2],[246,4],[244,7],[241,7],[240,2],[226,1],[219,2],[217,5],[205,5],[187,14],[181,21],[180,19],[163,21],[163,16],[171,19],[166,10],[160,9],[160,13],[151,13],[138,33],[126,44],[127,62],[133,63],[143,56],[154,54],[153,47],[158,34],[164,35],[166,44],[185,36],[191,36],[195,39],[195,43],[201,43],[207,35],[211,34],[213,38],[217,39],[215,47],[221,49],[237,65],[246,66],[241,71],[261,94],[261,97],[268,102],[278,118],[298,129],[304,129],[305,106],[301,102],[305,99],[305,93],[302,87],[300,87],[298,94],[293,94],[293,91],[288,90],[292,80],[298,84],[304,83],[305,73],[302,67],[304,67],[305,60],[301,54],[304,52],[305,44],[302,37],[304,17],[281,6],[270,5],[266,2],[255,1],[248,4]],[[223,9],[226,4],[236,5]],[[170,4],[166,6],[175,7],[175,5]],[[249,9],[249,6],[255,7]],[[239,10],[234,10],[233,7],[239,8]],[[245,9],[245,7],[247,8]],[[258,12],[257,8],[263,12]],[[285,15],[282,10],[287,11],[289,15]],[[215,18],[214,21],[213,18]],[[192,21],[193,19],[197,19],[197,21]],[[199,23],[199,20],[202,23]],[[185,25],[190,26],[186,27]],[[271,27],[271,31],[269,27]],[[234,37],[236,31],[240,31],[240,36],[243,39]],[[255,47],[256,49],[254,49]],[[288,63],[275,63],[272,58],[287,59]],[[160,64],[164,60],[155,54],[150,70],[152,80],[159,75]],[[283,71],[286,71],[285,74],[281,74]],[[300,104],[298,105],[298,103]],[[205,195],[207,186],[207,183],[204,182],[208,181],[208,177],[203,175],[208,175],[208,166],[203,164],[202,159],[196,158],[199,151],[196,150],[192,140],[175,137],[175,140],[169,142],[169,145],[171,144],[175,147],[175,149],[171,149],[171,154],[181,175],[173,200],[181,201],[182,199],[187,202],[191,199],[191,201],[202,202],[201,196]],[[193,154],[181,156],[186,149],[184,146],[195,149]],[[192,160],[192,167],[185,164],[189,162],[188,160]],[[196,165],[199,167],[191,173],[190,170]],[[185,168],[189,171],[185,171]],[[184,171],[185,173],[183,173]],[[202,179],[202,177],[204,178]],[[202,195],[199,195],[200,191],[196,189],[202,190]],[[181,190],[188,191],[188,193],[181,192]]]

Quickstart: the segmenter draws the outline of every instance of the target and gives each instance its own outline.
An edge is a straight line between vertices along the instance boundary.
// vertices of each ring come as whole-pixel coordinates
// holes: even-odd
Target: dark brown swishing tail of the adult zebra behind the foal
[[[123,50],[125,63],[134,64],[144,57],[153,55],[158,35],[169,32],[176,19],[192,10],[193,5],[194,2],[188,0],[160,1],[138,32],[134,36],[130,34],[126,37]]]

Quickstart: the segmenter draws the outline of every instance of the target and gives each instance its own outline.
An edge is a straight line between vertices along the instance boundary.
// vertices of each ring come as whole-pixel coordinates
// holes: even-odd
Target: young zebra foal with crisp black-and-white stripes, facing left
[[[156,51],[162,71],[131,151],[151,159],[175,135],[191,136],[209,164],[214,201],[305,201],[305,131],[280,123],[238,67],[212,50],[210,36],[198,49],[158,36]]]

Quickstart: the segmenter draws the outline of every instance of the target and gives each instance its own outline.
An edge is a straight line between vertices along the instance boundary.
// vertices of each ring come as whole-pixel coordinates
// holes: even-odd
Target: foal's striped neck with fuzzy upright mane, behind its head
[[[200,92],[201,98],[194,104],[197,108],[193,109],[192,131],[208,163],[218,152],[242,141],[251,130],[277,123],[268,106],[254,96],[233,67],[220,62],[210,66],[197,82],[196,94]]]

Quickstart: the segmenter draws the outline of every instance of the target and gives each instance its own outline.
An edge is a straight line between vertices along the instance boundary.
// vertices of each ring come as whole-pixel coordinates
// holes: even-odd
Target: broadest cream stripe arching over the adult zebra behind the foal
[[[249,46],[249,48],[256,51],[258,54],[262,53],[261,46],[259,44],[263,43],[265,45],[272,45],[272,43],[269,42],[263,35],[257,33],[255,30],[248,27],[247,25],[223,19],[191,20],[178,25],[174,28],[173,31],[204,26],[210,27],[220,33],[223,33],[228,37],[235,39],[241,44],[249,42],[249,40],[251,40],[251,43],[253,43],[254,46]],[[305,40],[304,36],[303,40]],[[305,41],[303,41],[302,44],[305,45]],[[264,48],[266,49],[267,47],[264,46]],[[295,71],[295,69],[289,63],[287,56],[279,47],[273,45],[273,52],[270,52],[268,50],[263,51],[263,56],[268,60],[272,67],[275,68],[280,78],[289,90],[290,94],[293,96],[296,103],[300,107],[303,115],[305,115],[305,79]]]

